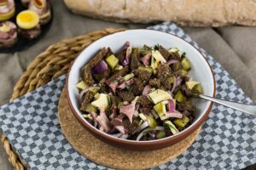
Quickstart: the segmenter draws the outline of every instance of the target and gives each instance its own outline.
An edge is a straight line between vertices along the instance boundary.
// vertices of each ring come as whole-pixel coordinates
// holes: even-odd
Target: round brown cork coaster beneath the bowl
[[[62,133],[75,150],[78,150],[90,161],[117,169],[145,169],[171,161],[189,148],[201,130],[200,127],[187,139],[165,149],[153,151],[123,150],[103,143],[82,127],[67,104],[65,88],[61,93],[58,112]]]

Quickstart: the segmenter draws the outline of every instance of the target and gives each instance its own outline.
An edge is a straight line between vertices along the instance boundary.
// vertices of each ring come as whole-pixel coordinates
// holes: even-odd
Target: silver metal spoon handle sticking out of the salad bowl
[[[244,113],[256,116],[256,105],[240,104],[240,103],[236,103],[236,102],[232,102],[232,101],[227,101],[227,100],[224,100],[224,99],[212,98],[212,97],[202,95],[202,94],[199,94],[198,97],[201,98],[201,99],[207,99],[207,100],[213,101],[213,102],[218,103],[220,105],[228,106],[228,107],[230,107],[232,109],[235,109],[237,111],[242,111]]]

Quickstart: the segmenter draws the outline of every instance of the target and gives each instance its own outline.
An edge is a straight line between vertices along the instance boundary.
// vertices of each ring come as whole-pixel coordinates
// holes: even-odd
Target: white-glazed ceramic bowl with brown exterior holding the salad
[[[201,82],[204,94],[214,97],[215,81],[212,74],[212,69],[204,56],[189,42],[184,41],[180,37],[176,37],[162,31],[144,29],[119,31],[106,37],[102,37],[99,40],[96,40],[96,42],[92,42],[87,48],[84,49],[84,51],[82,51],[81,54],[79,54],[78,58],[75,59],[73,66],[68,73],[66,86],[67,100],[73,114],[76,116],[79,122],[81,122],[82,125],[90,131],[90,133],[108,144],[135,150],[154,150],[171,144],[176,144],[180,140],[185,139],[190,133],[193,133],[198,127],[201,126],[202,122],[206,120],[209,112],[211,111],[211,102],[202,99],[193,99],[193,103],[197,109],[193,124],[176,135],[153,141],[137,142],[112,137],[107,133],[102,133],[95,127],[91,126],[90,123],[84,120],[84,118],[81,116],[78,101],[79,90],[75,88],[76,83],[79,82],[79,77],[81,77],[81,69],[101,48],[110,47],[113,50],[113,53],[115,53],[123,47],[126,41],[131,42],[131,47],[143,47],[144,44],[148,45],[149,47],[153,47],[155,44],[160,44],[164,48],[179,48],[187,54],[187,57],[191,61],[192,70],[189,71],[189,77],[193,77],[193,80]]]

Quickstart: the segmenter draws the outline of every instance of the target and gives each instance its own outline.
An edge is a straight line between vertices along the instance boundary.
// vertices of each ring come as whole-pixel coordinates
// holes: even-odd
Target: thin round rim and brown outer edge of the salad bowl
[[[117,31],[117,32],[113,32],[113,33],[110,33],[108,34],[107,36],[104,36],[104,37],[100,37],[99,39],[97,39],[96,41],[94,42],[91,42],[90,45],[94,44],[95,42],[97,42],[98,40],[101,40],[102,38],[107,38],[107,37],[111,37],[113,34],[118,34],[118,33],[122,33],[122,32],[125,32],[125,31],[157,31],[157,32],[161,32],[161,33],[164,33],[168,36],[173,36],[173,37],[177,37],[178,39],[182,40],[183,42],[187,43],[191,48],[194,48],[199,54],[200,54],[200,57],[202,59],[205,59],[210,71],[211,71],[211,74],[212,74],[212,81],[213,81],[213,94],[212,94],[212,97],[215,97],[215,94],[216,94],[216,81],[215,81],[215,77],[214,77],[214,74],[213,74],[213,71],[212,71],[212,67],[211,65],[208,63],[206,57],[201,53],[201,51],[197,48],[195,48],[195,46],[193,46],[190,42],[186,41],[185,39],[183,39],[182,37],[178,37],[177,35],[174,35],[174,34],[171,34],[171,33],[168,33],[168,32],[165,32],[165,31],[158,31],[158,30],[152,30],[152,29],[128,29],[128,30],[122,30],[122,31]],[[90,46],[89,45],[89,46]],[[88,46],[88,47],[89,47]],[[88,48],[87,47],[87,48]],[[169,136],[169,137],[166,137],[166,138],[163,138],[163,139],[155,139],[155,140],[147,140],[147,141],[137,141],[137,140],[130,140],[130,139],[119,139],[117,137],[114,137],[108,133],[105,133],[105,132],[102,132],[100,131],[98,128],[92,126],[90,124],[90,122],[87,122],[84,118],[82,118],[81,116],[79,116],[80,113],[78,113],[77,111],[75,111],[73,105],[72,105],[72,102],[71,102],[71,99],[70,99],[70,96],[69,96],[69,90],[68,90],[68,80],[69,80],[69,76],[70,76],[70,72],[73,68],[73,65],[75,63],[75,60],[77,60],[80,56],[80,54],[82,52],[84,52],[86,48],[83,49],[83,51],[81,51],[79,54],[78,54],[78,57],[76,59],[74,59],[73,61],[73,64],[71,65],[71,67],[69,68],[68,72],[67,72],[67,79],[66,79],[66,85],[65,85],[65,88],[66,88],[66,92],[67,92],[67,103],[71,109],[71,111],[73,112],[73,115],[77,118],[77,120],[84,126],[86,127],[90,133],[96,133],[98,134],[99,136],[101,136],[102,138],[107,138],[108,140],[111,140],[111,141],[115,141],[115,142],[119,142],[119,143],[122,143],[122,144],[136,144],[136,145],[151,145],[151,144],[163,144],[163,143],[166,143],[168,141],[174,141],[174,140],[182,140],[182,139],[185,139],[189,136],[189,134],[193,133],[198,127],[201,126],[201,124],[203,122],[206,121],[207,119],[207,116],[210,114],[210,112],[212,111],[212,105],[213,105],[213,102],[210,102],[210,105],[208,106],[207,108],[207,111],[205,111],[204,113],[202,113],[202,116],[201,118],[195,122],[195,124],[191,124],[189,127],[185,128],[183,131],[177,133],[177,134],[174,134],[172,136]]]

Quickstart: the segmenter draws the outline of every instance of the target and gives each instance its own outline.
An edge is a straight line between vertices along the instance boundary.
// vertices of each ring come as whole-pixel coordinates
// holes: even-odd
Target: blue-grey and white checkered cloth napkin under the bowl
[[[175,24],[148,29],[182,37],[198,48],[212,66],[217,97],[252,104],[229,73]],[[57,119],[64,76],[0,108],[0,127],[32,169],[106,169],[81,156],[68,144]],[[155,169],[240,169],[256,163],[256,118],[214,105],[200,135],[181,156]]]

